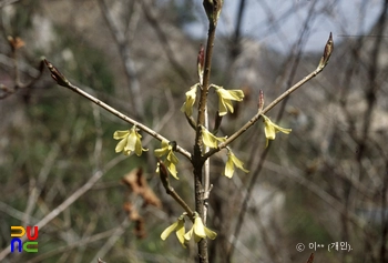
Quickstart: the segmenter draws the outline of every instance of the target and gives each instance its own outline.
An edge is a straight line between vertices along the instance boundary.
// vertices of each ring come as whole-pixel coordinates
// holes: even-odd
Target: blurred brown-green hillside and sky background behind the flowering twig
[[[313,72],[330,32],[335,49],[267,114],[290,134],[265,151],[258,121],[231,144],[249,173],[229,180],[225,152],[212,159],[210,262],[388,262],[387,11],[382,0],[225,0],[211,82],[245,99],[218,136],[257,112],[261,89],[268,104]],[[160,239],[183,212],[155,173],[160,142],[141,133],[149,152],[116,154],[113,133],[131,125],[40,61],[192,152],[180,108],[206,36],[200,0],[0,1],[1,262],[196,262],[194,242]],[[216,110],[211,91],[211,123]],[[172,184],[193,205],[177,156]],[[39,225],[39,252],[11,253],[11,225]]]

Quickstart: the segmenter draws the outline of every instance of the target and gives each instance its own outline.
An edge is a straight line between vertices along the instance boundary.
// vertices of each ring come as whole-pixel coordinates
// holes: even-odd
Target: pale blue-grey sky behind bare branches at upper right
[[[224,0],[218,34],[231,36],[238,4],[237,0]],[[282,52],[289,50],[300,36],[306,18],[315,13],[308,23],[310,30],[305,51],[320,52],[330,32],[335,43],[354,38],[350,36],[367,34],[380,12],[382,0],[246,0],[246,4],[243,36]],[[204,16],[201,6],[197,10]],[[194,23],[187,30],[193,37],[205,38],[206,27]]]

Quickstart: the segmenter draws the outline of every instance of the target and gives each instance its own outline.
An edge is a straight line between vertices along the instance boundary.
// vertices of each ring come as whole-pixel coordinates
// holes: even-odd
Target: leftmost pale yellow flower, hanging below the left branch
[[[121,140],[115,152],[123,152],[125,155],[130,155],[131,152],[135,152],[137,156],[142,155],[143,151],[149,151],[142,148],[142,135],[137,133],[136,127],[132,127],[131,130],[126,131],[115,131],[113,133],[114,140]]]

